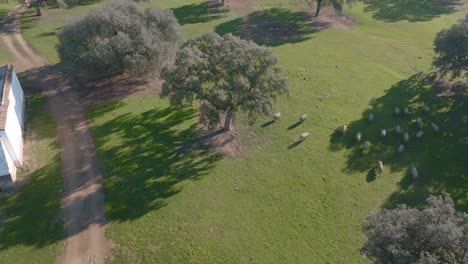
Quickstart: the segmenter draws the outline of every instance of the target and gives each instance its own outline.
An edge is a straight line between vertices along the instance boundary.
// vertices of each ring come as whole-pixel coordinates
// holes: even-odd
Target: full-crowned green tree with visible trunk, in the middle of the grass
[[[254,118],[270,114],[288,91],[272,50],[232,34],[209,33],[187,41],[162,73],[162,96],[172,105],[200,100],[200,121],[214,127],[225,113],[226,130],[239,110]]]

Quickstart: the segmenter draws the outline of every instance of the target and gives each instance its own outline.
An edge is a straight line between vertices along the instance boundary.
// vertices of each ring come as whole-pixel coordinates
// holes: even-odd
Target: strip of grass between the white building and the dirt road
[[[62,232],[60,152],[44,100],[31,95],[27,101],[25,170],[18,173],[18,179],[30,180],[0,199],[0,262],[54,263]]]

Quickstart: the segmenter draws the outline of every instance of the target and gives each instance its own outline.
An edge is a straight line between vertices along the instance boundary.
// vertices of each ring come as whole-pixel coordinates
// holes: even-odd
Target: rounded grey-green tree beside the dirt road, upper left
[[[92,79],[157,72],[175,55],[181,33],[170,10],[113,0],[66,25],[58,37],[62,64]]]

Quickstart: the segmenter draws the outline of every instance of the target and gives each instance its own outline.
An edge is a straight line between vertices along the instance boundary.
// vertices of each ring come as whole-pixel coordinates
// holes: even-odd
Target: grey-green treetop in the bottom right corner
[[[364,253],[375,263],[468,263],[468,215],[449,197],[427,202],[422,210],[400,205],[371,213]]]

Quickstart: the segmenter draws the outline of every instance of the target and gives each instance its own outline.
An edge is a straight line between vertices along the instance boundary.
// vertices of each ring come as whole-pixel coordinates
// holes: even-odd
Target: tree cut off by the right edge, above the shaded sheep
[[[434,40],[434,50],[437,56],[433,64],[442,75],[468,77],[468,16],[439,32]]]

